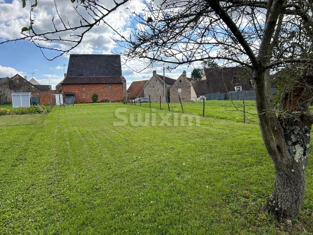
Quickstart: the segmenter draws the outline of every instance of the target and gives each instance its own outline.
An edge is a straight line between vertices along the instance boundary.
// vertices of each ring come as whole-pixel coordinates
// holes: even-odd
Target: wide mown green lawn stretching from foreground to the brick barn
[[[0,234],[312,233],[312,154],[299,220],[284,228],[261,212],[275,174],[259,127],[223,105],[207,101],[197,126],[115,126],[117,108],[151,113],[121,103],[1,116]]]

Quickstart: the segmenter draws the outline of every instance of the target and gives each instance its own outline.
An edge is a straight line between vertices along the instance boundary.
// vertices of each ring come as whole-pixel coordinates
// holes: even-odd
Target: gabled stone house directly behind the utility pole
[[[175,79],[165,77],[164,82],[163,75],[159,75],[156,73],[156,70],[153,70],[152,77],[146,82],[143,87],[144,97],[149,97],[150,95],[151,102],[159,102],[160,96],[161,101],[166,102],[165,97],[167,97],[168,102],[170,102],[170,87],[174,84],[175,81]]]

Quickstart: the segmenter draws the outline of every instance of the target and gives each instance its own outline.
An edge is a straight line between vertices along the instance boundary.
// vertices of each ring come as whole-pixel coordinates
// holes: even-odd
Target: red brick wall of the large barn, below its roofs
[[[112,89],[109,89],[109,85]],[[75,94],[76,103],[92,102],[91,96],[93,93],[98,94],[98,102],[102,100],[123,101],[123,84],[62,84],[63,96],[64,92],[72,92]]]

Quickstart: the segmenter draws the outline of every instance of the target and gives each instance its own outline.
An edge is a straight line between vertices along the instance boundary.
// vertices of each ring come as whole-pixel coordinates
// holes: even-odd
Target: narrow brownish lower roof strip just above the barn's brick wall
[[[69,77],[66,76],[61,84],[86,84],[86,83],[123,83],[123,76],[119,77]]]

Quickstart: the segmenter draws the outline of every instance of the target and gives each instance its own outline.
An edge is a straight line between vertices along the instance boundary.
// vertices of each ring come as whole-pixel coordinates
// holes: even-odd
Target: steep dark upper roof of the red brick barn
[[[66,76],[122,76],[121,56],[71,54]]]

